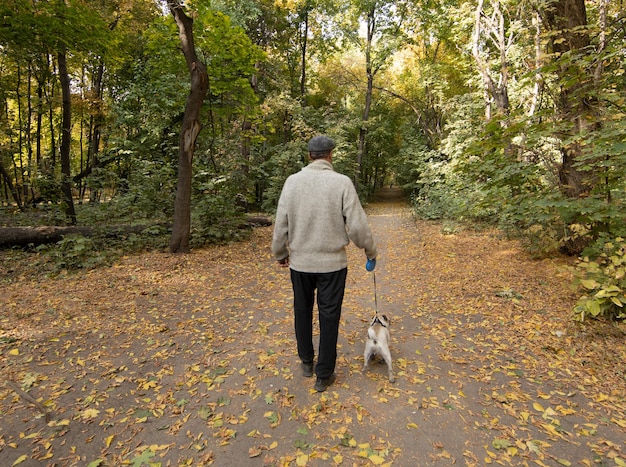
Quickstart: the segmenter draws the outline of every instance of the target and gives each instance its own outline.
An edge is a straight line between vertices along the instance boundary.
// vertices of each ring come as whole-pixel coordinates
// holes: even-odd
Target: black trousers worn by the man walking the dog
[[[315,302],[315,290],[317,290],[320,341],[315,374],[318,378],[328,378],[335,371],[337,336],[347,275],[348,268],[327,273],[291,270],[298,356],[305,363],[312,362],[315,358],[313,304]]]

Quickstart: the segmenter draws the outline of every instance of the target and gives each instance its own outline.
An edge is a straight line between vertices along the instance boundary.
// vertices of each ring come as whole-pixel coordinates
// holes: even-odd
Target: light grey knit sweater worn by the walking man
[[[278,200],[272,252],[299,272],[347,267],[350,240],[376,258],[376,243],[352,180],[330,162],[311,162],[285,181]]]

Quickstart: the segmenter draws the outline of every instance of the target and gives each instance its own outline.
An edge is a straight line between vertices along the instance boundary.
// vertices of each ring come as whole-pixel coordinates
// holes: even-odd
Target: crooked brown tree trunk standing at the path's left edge
[[[193,20],[183,11],[178,0],[167,2],[178,25],[183,54],[191,74],[191,91],[185,104],[185,115],[180,132],[178,148],[178,186],[174,204],[174,225],[170,240],[170,252],[188,253],[191,233],[191,177],[196,139],[202,129],[200,110],[207,94],[209,79],[206,66],[196,55],[193,40]]]

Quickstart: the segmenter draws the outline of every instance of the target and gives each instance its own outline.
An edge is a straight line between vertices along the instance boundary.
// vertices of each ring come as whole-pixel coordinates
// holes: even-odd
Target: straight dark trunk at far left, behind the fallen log
[[[65,215],[70,224],[76,225],[76,211],[74,210],[74,198],[72,196],[72,174],[70,167],[70,143],[72,137],[72,99],[70,91],[70,78],[67,73],[67,59],[65,52],[59,52],[59,81],[63,101],[63,119],[61,123],[61,192],[65,203]]]

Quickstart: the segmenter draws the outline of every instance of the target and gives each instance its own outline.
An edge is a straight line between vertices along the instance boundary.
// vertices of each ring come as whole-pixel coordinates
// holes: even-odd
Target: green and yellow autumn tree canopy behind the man
[[[607,0],[0,9],[5,212],[168,221],[185,171],[192,243],[220,239],[272,212],[325,132],[364,198],[400,185],[421,216],[495,224],[542,253],[624,233],[625,18]]]

